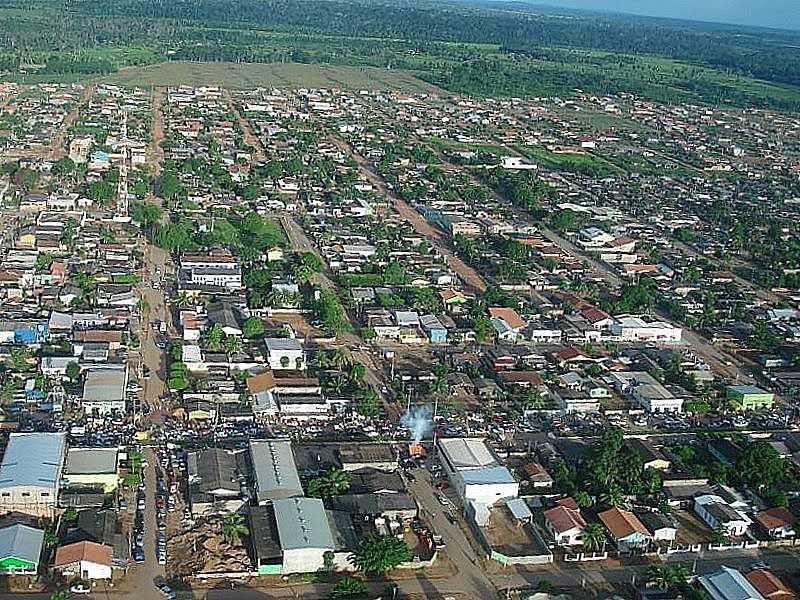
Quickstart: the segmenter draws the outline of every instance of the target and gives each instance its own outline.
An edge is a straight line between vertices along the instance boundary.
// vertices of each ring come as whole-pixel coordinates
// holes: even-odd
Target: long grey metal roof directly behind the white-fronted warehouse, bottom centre
[[[259,502],[303,495],[290,442],[250,440],[250,458]]]

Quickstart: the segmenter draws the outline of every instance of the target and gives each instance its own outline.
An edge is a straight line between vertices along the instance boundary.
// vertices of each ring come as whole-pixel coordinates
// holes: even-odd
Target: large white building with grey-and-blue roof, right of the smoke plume
[[[519,495],[519,482],[500,464],[484,440],[443,438],[438,446],[450,483],[465,503],[492,505]]]

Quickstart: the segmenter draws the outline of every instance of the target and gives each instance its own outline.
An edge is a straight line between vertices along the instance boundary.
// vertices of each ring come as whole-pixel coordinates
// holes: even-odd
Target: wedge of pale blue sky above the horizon
[[[532,0],[536,4],[611,10],[693,21],[800,29],[800,0]]]

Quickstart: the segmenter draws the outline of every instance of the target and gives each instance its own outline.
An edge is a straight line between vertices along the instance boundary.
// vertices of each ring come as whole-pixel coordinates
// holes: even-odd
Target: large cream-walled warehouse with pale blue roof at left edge
[[[12,433],[0,463],[0,511],[51,518],[66,450],[65,433]]]

